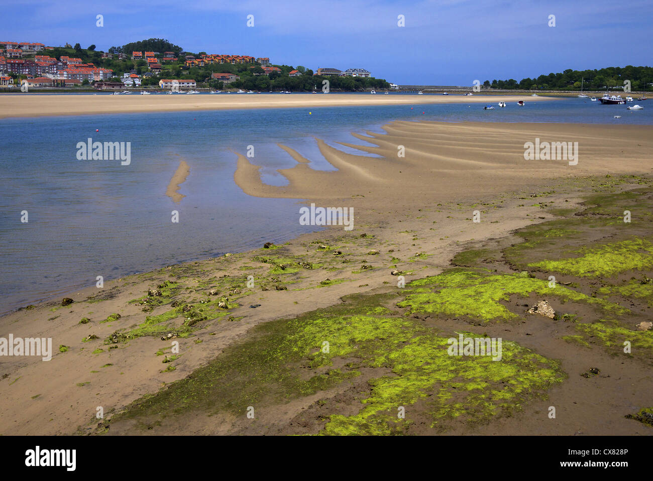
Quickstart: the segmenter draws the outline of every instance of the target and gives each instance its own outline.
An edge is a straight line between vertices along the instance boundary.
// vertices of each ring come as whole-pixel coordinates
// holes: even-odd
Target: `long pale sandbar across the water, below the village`
[[[135,112],[233,110],[239,108],[317,108],[365,105],[419,105],[454,103],[544,102],[552,97],[528,95],[0,95],[0,118],[79,116]]]

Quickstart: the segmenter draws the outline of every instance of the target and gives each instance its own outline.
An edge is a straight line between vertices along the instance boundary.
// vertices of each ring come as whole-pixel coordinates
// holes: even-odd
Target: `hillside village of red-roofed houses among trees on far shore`
[[[80,52],[80,56],[61,55],[62,50]],[[86,53],[82,55],[81,53]],[[57,54],[58,58],[57,58]],[[82,57],[92,56],[97,61],[88,61]],[[86,61],[85,61],[86,60]],[[125,71],[104,67],[107,63],[123,61]],[[238,67],[233,71],[209,71],[206,78],[188,78],[191,72],[209,68],[215,70],[220,66]],[[210,67],[214,66],[214,67]],[[131,67],[131,68],[129,68]],[[247,67],[244,69],[244,67]],[[206,70],[200,70],[205,72]],[[256,82],[256,77],[267,77],[265,82]],[[318,68],[313,70],[298,66],[272,65],[268,57],[252,57],[250,55],[227,54],[191,54],[189,52],[140,52],[112,54],[95,52],[95,46],[82,50],[77,44],[72,48],[45,46],[40,42],[0,42],[0,88],[30,88],[46,87],[87,87],[99,90],[123,90],[130,87],[159,87],[159,89],[195,89],[197,87],[212,87],[229,89],[246,87],[248,89],[270,87],[272,80],[277,78],[300,78],[308,76],[315,79],[313,89],[321,87],[324,77],[349,77],[376,80],[366,69],[350,68],[339,70],[333,68]],[[244,83],[243,80],[249,80]],[[311,79],[312,82],[313,79]],[[385,80],[381,80],[387,84]],[[374,84],[372,87],[385,85]],[[367,84],[360,84],[368,87]],[[283,84],[282,89],[291,87]],[[304,88],[306,89],[306,88]]]

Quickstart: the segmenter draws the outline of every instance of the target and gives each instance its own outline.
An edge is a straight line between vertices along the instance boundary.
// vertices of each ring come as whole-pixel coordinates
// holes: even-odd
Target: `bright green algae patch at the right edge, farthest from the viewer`
[[[580,256],[534,262],[528,266],[577,277],[614,277],[630,270],[653,268],[653,243],[640,238],[599,247],[581,247],[574,253]]]

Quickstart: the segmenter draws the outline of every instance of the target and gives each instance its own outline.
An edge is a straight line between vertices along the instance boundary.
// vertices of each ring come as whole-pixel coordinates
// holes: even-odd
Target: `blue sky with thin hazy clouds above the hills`
[[[565,69],[652,65],[651,0],[0,0],[0,5],[3,41],[79,42],[106,51],[153,37],[188,52],[269,57],[274,64],[312,70],[363,68],[400,85],[473,85]],[[103,16],[102,27],[97,15]],[[549,26],[550,16],[555,26]]]

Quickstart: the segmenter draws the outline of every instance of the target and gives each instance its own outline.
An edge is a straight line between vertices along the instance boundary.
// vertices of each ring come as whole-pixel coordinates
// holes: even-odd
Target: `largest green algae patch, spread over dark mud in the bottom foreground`
[[[449,356],[450,336],[381,305],[393,297],[349,296],[346,305],[259,324],[246,341],[228,347],[192,377],[136,401],[116,419],[188,410],[240,415],[249,405],[285,403],[349,385],[365,367],[379,372],[368,381],[369,396],[353,416],[332,414],[323,434],[394,433],[408,426],[396,418],[399,406],[432,399],[432,426],[463,413],[487,419],[564,378],[556,362],[515,343],[504,345],[501,362]]]

